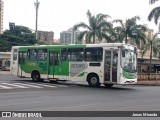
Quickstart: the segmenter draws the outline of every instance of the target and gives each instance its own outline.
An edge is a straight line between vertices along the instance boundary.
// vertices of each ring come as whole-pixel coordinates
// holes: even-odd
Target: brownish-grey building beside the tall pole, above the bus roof
[[[54,32],[38,31],[38,40],[46,45],[52,45],[54,42]]]

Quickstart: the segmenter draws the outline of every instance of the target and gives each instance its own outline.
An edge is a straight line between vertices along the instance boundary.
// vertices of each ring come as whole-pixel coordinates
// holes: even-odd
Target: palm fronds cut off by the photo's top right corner
[[[154,4],[156,1],[159,0],[149,0],[150,4]],[[159,7],[155,7],[148,15],[148,20],[151,21],[152,19],[154,19],[155,24],[157,25],[158,23],[158,19],[160,17],[160,6]]]

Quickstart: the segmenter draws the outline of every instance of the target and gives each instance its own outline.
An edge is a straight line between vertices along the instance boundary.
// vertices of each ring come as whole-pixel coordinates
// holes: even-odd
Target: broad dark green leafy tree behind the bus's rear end
[[[36,44],[35,33],[28,27],[15,26],[12,30],[5,30],[0,35],[0,51],[10,51],[15,45],[33,45]]]

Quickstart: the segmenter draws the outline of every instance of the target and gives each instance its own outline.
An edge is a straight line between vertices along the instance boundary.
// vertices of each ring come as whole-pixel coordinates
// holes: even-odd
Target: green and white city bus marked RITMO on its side
[[[13,46],[11,74],[89,86],[137,83],[137,48],[124,43]]]

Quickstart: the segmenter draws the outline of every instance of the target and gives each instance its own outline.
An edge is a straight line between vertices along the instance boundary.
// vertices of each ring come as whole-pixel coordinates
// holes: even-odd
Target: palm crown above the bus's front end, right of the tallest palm
[[[120,23],[120,26],[114,28],[115,34],[112,35],[114,37],[116,36],[115,38],[119,42],[125,40],[125,42],[127,43],[128,37],[134,40],[137,45],[140,44],[140,40],[143,40],[145,42],[145,31],[147,30],[147,28],[144,25],[138,25],[136,23],[136,21],[139,19],[139,16],[135,16],[127,19],[125,23],[123,23],[123,21],[119,19],[114,20],[113,23]]]

